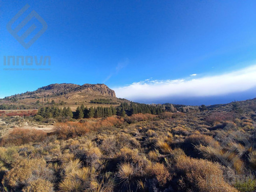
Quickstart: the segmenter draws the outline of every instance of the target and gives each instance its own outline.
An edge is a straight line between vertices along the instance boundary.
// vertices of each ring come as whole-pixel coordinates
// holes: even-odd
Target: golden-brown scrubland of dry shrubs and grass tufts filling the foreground
[[[254,191],[255,103],[14,129],[1,140],[1,190]]]

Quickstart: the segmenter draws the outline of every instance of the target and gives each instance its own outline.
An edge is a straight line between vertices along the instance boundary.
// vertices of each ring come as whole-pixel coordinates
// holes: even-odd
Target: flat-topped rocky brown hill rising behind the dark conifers
[[[91,102],[91,100],[103,99],[108,102]],[[0,104],[15,105],[11,109],[38,109],[47,106],[51,102],[70,106],[75,110],[79,104],[90,106],[118,106],[125,99],[116,98],[114,90],[105,84],[83,84],[82,86],[72,83],[50,84],[36,91],[15,94],[0,100]]]

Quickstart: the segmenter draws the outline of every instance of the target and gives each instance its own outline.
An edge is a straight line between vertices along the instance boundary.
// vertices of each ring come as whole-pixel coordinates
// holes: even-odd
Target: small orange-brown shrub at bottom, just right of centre
[[[164,164],[155,163],[147,167],[148,174],[156,177],[160,186],[164,186],[170,179],[170,174]]]

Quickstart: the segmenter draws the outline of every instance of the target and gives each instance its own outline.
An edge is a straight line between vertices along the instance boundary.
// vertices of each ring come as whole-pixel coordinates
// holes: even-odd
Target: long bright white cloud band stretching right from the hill
[[[218,96],[243,92],[254,87],[256,87],[256,65],[238,71],[196,79],[146,79],[125,87],[114,88],[114,90],[117,97],[136,100]]]

